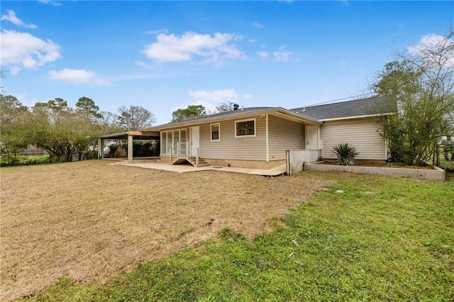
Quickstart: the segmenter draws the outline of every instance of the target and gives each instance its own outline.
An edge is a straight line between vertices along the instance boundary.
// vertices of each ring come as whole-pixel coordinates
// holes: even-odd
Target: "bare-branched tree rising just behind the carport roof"
[[[142,130],[156,122],[155,115],[142,106],[121,106],[118,112],[118,124],[123,130]]]

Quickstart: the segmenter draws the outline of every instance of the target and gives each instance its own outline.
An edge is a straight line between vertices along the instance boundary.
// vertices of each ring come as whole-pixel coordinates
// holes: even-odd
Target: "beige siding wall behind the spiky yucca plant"
[[[348,121],[326,121],[320,128],[323,140],[323,158],[336,159],[333,146],[340,143],[353,145],[360,153],[357,160],[387,160],[385,143],[377,132],[375,118]]]

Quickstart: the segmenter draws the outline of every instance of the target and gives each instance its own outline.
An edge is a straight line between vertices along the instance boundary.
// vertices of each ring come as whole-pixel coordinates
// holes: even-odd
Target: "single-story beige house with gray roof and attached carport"
[[[133,139],[159,138],[160,158],[170,163],[192,162],[267,169],[284,164],[286,150],[323,150],[335,158],[333,145],[348,142],[358,159],[387,160],[378,116],[396,110],[390,99],[375,97],[288,110],[281,107],[238,108],[143,131],[105,135],[128,139],[132,162]]]

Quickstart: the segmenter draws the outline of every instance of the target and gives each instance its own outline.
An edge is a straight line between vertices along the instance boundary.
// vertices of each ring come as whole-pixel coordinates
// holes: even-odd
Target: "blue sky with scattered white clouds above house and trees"
[[[296,108],[357,96],[395,52],[444,35],[453,1],[1,1],[1,86],[87,96],[167,123],[190,104]]]

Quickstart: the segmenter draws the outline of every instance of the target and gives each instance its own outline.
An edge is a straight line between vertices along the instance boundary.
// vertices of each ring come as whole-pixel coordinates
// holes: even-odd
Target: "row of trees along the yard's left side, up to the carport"
[[[72,152],[87,150],[101,135],[148,128],[153,113],[141,106],[121,106],[118,115],[99,111],[92,99],[74,106],[61,98],[23,106],[16,96],[0,94],[1,152],[15,157],[29,146],[46,150],[54,162],[70,161]]]

